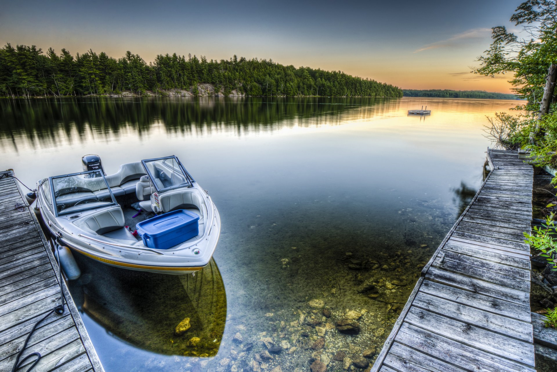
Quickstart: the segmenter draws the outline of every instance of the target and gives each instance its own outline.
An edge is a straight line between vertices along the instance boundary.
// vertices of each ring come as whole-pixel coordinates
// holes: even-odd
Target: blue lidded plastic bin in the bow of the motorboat
[[[136,224],[143,244],[153,249],[168,249],[199,234],[199,216],[178,209]]]

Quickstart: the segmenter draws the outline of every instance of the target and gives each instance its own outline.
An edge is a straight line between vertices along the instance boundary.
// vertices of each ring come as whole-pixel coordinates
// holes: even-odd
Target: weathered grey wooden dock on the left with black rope
[[[1,177],[0,371],[12,370],[33,325],[61,304],[56,273],[55,257],[21,188],[14,178]],[[41,354],[32,372],[104,372],[63,280],[62,290],[65,311],[53,312],[37,327],[21,359]],[[26,371],[35,359],[28,359],[21,370]]]

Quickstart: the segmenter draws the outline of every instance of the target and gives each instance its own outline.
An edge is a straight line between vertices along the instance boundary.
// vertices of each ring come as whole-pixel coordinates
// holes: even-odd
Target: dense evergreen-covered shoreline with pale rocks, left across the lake
[[[390,84],[341,71],[284,66],[272,60],[207,60],[158,55],[146,63],[127,52],[76,53],[7,44],[0,49],[0,96],[331,96],[402,97]]]

